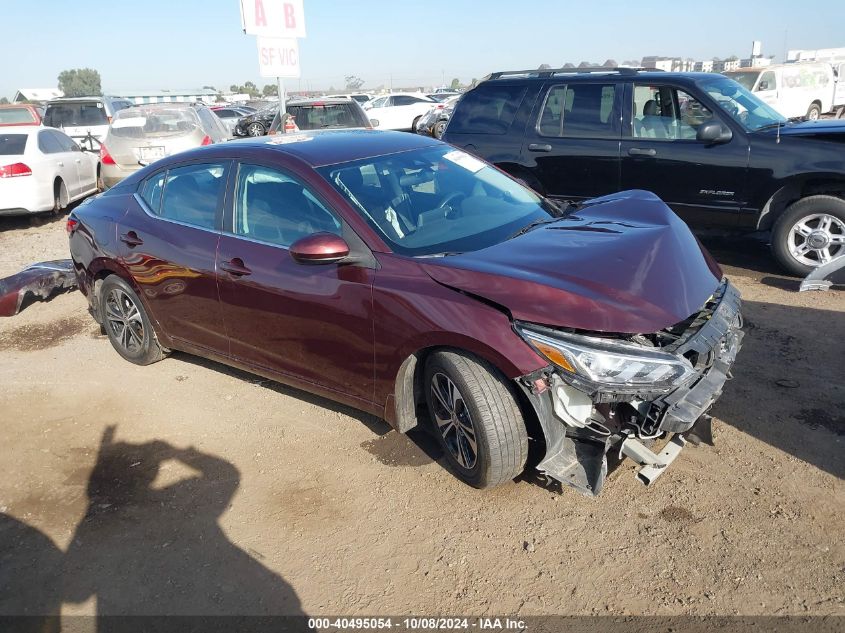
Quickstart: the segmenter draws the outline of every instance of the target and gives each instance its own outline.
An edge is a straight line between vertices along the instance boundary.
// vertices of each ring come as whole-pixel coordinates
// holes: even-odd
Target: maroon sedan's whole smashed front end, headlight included
[[[699,313],[655,333],[514,328],[551,363],[518,379],[545,435],[537,468],[588,495],[601,491],[608,456],[636,461],[648,485],[688,438],[712,443],[707,411],[743,337],[739,291],[727,280]],[[650,448],[667,438],[659,452]]]

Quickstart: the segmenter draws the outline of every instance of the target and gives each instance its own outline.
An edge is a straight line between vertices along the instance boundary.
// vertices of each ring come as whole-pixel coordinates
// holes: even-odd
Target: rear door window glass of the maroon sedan
[[[217,201],[224,185],[225,166],[189,165],[167,172],[161,217],[205,229],[216,226]]]

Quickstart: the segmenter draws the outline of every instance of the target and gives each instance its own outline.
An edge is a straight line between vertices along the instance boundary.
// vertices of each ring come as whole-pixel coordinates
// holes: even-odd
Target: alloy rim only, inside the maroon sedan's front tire
[[[431,378],[431,401],[437,429],[444,443],[462,468],[472,470],[478,461],[475,426],[457,385],[446,374]]]

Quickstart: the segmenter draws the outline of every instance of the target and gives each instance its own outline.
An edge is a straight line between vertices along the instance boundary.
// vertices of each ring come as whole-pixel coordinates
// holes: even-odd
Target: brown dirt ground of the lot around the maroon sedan
[[[0,276],[66,243],[0,219]],[[78,292],[0,320],[0,613],[845,615],[845,293],[711,246],[747,321],[716,446],[595,499],[474,490],[424,433],[216,363],[136,367]]]

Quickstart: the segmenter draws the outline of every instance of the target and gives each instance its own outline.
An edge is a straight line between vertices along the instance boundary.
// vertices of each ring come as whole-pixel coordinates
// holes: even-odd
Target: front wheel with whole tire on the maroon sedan
[[[512,480],[525,468],[528,433],[514,393],[489,363],[441,351],[425,366],[425,396],[450,469],[475,488]]]

